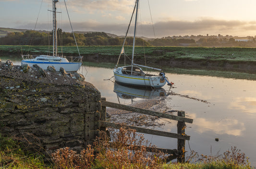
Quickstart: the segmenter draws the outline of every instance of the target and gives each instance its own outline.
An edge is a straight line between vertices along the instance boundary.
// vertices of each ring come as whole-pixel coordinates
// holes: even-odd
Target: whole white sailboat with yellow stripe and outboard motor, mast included
[[[120,60],[121,55],[124,53],[124,43],[127,37],[127,33],[134,15],[134,11],[132,14],[132,18],[130,20],[128,30],[126,32],[124,42],[122,45],[122,50],[118,58],[117,65],[115,66],[113,72],[114,72],[114,77],[115,81],[121,84],[125,85],[132,85],[132,86],[141,86],[141,87],[152,87],[152,88],[160,88],[168,83],[168,85],[172,86],[173,83],[170,83],[168,79],[165,77],[165,73],[162,72],[162,69],[159,68],[151,68],[143,65],[137,65],[134,64],[134,46],[135,46],[135,35],[136,35],[136,24],[137,24],[137,14],[138,14],[138,5],[139,5],[139,0],[136,0],[135,6],[134,6],[134,11],[135,12],[135,26],[134,26],[134,41],[133,41],[133,53],[132,53],[132,64],[130,66],[124,66],[124,67],[118,67],[118,63]],[[143,72],[142,68],[150,68],[153,70],[160,71],[159,75],[150,75],[146,74]]]

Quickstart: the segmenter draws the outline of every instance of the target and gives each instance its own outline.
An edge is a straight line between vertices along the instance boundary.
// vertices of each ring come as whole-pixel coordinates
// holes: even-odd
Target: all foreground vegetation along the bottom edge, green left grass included
[[[219,156],[205,156],[192,152],[185,163],[166,163],[168,155],[155,151],[147,153],[146,146],[152,147],[143,135],[135,130],[121,128],[110,132],[112,143],[106,133],[96,139],[93,146],[87,146],[81,153],[70,148],[61,148],[51,154],[51,160],[44,163],[43,156],[28,154],[15,138],[0,135],[1,169],[255,169],[249,158],[239,149]],[[131,146],[127,146],[131,145]],[[146,146],[145,146],[146,145]],[[139,148],[138,148],[139,146]]]

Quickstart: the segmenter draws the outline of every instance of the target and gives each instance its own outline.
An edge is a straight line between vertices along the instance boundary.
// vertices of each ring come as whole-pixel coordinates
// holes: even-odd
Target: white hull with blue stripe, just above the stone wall
[[[53,66],[56,71],[59,71],[60,68],[64,68],[67,72],[76,72],[81,66],[81,62],[67,62],[67,63],[60,63],[60,62],[36,62],[36,61],[29,61],[29,60],[22,60],[21,64],[28,64],[28,66],[32,67],[33,65],[38,65],[42,69],[47,69],[48,66]]]

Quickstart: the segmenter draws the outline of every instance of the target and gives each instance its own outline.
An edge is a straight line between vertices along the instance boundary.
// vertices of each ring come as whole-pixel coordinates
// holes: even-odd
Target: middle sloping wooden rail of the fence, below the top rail
[[[189,135],[181,135],[181,134],[176,134],[176,133],[163,132],[163,131],[159,131],[159,130],[152,130],[152,129],[147,129],[147,128],[135,127],[132,125],[122,125],[122,124],[110,123],[110,122],[105,122],[105,121],[100,121],[100,126],[113,127],[113,128],[128,127],[128,128],[136,130],[139,133],[146,133],[146,134],[150,134],[150,135],[159,135],[159,136],[178,138],[178,139],[184,139],[184,140],[190,139]]]

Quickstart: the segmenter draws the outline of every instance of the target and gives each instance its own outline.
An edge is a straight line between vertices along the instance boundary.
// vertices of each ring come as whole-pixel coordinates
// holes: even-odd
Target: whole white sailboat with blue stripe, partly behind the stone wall
[[[67,58],[63,56],[58,56],[58,47],[57,47],[57,21],[56,21],[56,3],[59,0],[52,0],[52,12],[53,12],[53,56],[48,55],[40,55],[37,57],[33,57],[32,55],[22,55],[23,60],[21,64],[28,64],[28,66],[38,65],[43,69],[47,69],[48,66],[53,66],[56,71],[59,71],[60,68],[64,68],[67,72],[76,72],[82,66],[82,57],[75,57],[73,61],[77,62],[69,62]],[[73,30],[72,30],[73,32]],[[77,48],[78,49],[78,48]]]

